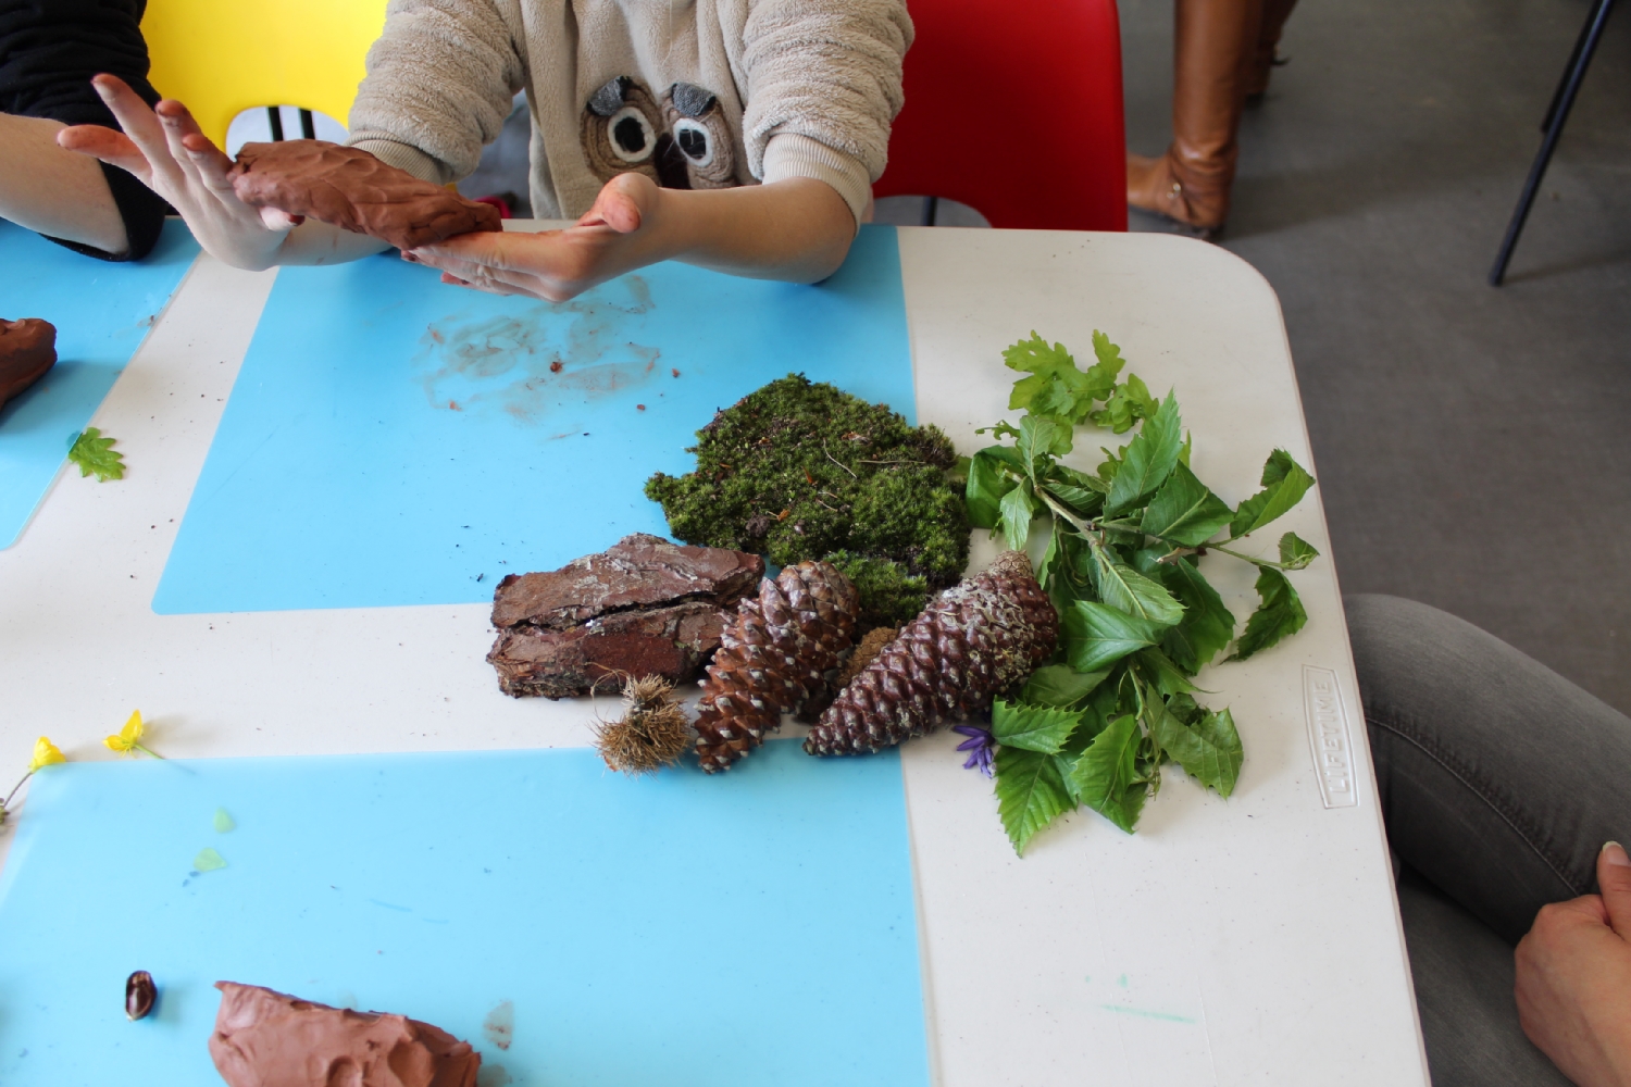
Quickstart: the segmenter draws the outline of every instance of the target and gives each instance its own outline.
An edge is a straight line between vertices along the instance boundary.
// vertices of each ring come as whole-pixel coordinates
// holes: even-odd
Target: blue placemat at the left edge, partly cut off
[[[0,318],[57,326],[57,365],[0,407],[0,548],[23,535],[197,251],[179,218],[165,223],[152,256],[129,264],[93,261],[0,220]]]

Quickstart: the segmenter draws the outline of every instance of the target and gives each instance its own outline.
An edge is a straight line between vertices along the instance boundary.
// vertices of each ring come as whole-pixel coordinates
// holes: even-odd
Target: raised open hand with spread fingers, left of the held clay
[[[124,80],[98,75],[91,85],[124,132],[82,124],[57,134],[57,143],[135,174],[170,200],[192,236],[212,256],[250,271],[277,262],[277,249],[298,223],[276,209],[250,207],[232,191],[232,160],[210,143],[188,108],[165,99],[157,109]]]

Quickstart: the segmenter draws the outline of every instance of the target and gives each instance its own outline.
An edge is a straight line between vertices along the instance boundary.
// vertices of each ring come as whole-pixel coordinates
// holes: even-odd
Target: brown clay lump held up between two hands
[[[326,140],[245,143],[230,176],[232,191],[245,204],[310,215],[398,249],[502,230],[496,207]]]

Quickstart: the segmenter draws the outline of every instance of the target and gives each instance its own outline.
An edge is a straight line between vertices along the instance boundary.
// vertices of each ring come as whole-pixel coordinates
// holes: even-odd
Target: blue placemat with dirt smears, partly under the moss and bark
[[[491,600],[664,535],[646,477],[789,372],[913,416],[894,228],[816,287],[659,264],[561,305],[395,257],[282,269],[153,610]]]

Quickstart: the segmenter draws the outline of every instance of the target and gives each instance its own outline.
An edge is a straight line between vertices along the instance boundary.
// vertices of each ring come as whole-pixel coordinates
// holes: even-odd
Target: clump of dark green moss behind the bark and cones
[[[969,515],[948,477],[957,453],[935,427],[788,375],[718,412],[696,438],[695,473],[646,482],[685,543],[778,566],[835,551],[889,559],[928,588],[951,585],[969,562]]]

